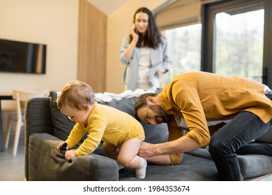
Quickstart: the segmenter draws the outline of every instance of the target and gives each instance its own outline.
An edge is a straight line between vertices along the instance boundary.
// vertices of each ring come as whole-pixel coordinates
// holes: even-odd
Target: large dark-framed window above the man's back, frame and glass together
[[[236,0],[204,6],[202,70],[247,77],[271,87],[272,1]]]

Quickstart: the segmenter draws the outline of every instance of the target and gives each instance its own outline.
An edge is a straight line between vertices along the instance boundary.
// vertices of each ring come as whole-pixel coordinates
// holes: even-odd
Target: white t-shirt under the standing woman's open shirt
[[[151,68],[150,48],[141,47],[139,52],[139,65],[137,72],[137,88],[144,90],[156,90],[160,87],[158,81],[152,87],[149,86],[148,72]]]

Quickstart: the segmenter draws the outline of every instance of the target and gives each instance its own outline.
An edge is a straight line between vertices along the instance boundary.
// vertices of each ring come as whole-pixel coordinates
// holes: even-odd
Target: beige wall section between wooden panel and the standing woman
[[[128,0],[107,18],[107,79],[106,91],[121,93],[125,90],[123,70],[125,65],[119,59],[123,37],[130,33],[135,10],[146,7],[154,10],[166,0]]]

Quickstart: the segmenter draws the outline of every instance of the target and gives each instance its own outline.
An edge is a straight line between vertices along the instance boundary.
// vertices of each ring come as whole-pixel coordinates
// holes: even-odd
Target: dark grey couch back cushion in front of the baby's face
[[[75,122],[69,120],[67,116],[62,114],[61,111],[58,109],[56,103],[56,98],[58,96],[56,91],[50,91],[50,97],[51,97],[50,107],[52,114],[52,124],[54,127],[53,135],[54,137],[57,137],[65,141],[68,138],[70,131],[73,129]],[[86,139],[86,134],[84,135],[80,142],[84,141],[84,139]]]

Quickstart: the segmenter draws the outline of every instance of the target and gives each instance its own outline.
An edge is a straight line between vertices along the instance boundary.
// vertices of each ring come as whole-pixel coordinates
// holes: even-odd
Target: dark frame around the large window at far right
[[[260,5],[264,7],[264,56],[262,83],[272,88],[272,1],[270,0],[235,0],[204,4],[202,7],[202,54],[201,70],[214,72],[214,24],[217,13],[241,6]],[[271,77],[269,77],[271,75]]]

